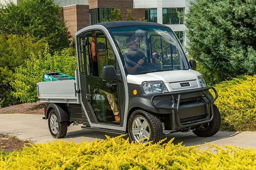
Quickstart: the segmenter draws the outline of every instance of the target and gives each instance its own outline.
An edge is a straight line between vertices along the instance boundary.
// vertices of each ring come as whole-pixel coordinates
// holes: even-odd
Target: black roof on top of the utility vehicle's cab
[[[101,22],[95,25],[102,25],[106,28],[113,28],[113,27],[119,27],[119,26],[137,26],[137,25],[143,25],[143,26],[162,26],[167,27],[162,24],[158,24],[156,22],[145,22],[145,21],[112,21],[112,22]]]

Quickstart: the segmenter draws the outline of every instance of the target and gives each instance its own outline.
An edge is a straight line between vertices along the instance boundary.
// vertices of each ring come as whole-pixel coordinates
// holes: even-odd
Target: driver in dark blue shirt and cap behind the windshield
[[[140,74],[142,64],[145,62],[145,54],[139,50],[138,37],[132,36],[126,39],[125,44],[128,52],[124,55],[126,58],[126,70],[129,74]],[[156,58],[155,63],[158,63]]]

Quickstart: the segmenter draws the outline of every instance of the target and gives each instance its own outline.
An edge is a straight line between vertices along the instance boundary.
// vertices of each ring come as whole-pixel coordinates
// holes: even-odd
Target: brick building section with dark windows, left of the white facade
[[[114,8],[120,9],[124,19],[127,9],[132,11],[132,16],[136,20],[145,17],[145,9],[134,9],[132,0],[55,0],[55,2],[63,7],[61,18],[66,21],[68,30],[73,36],[86,26],[112,18],[111,10]]]

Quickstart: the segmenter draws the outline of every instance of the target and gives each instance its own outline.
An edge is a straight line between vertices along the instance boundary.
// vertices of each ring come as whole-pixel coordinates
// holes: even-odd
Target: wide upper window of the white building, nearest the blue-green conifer
[[[182,12],[183,8],[177,8],[177,11]],[[176,8],[163,9],[163,24],[183,24],[183,19],[178,17]]]

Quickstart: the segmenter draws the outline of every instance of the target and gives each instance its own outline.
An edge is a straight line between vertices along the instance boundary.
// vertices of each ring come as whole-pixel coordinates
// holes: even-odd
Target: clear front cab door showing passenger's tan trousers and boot
[[[103,81],[102,67],[113,65],[116,68],[116,57],[101,31],[83,33],[85,54],[85,72],[87,93],[81,94],[86,112],[93,115],[99,124],[120,126],[120,108],[118,100],[118,82]],[[91,119],[91,118],[90,118]]]

